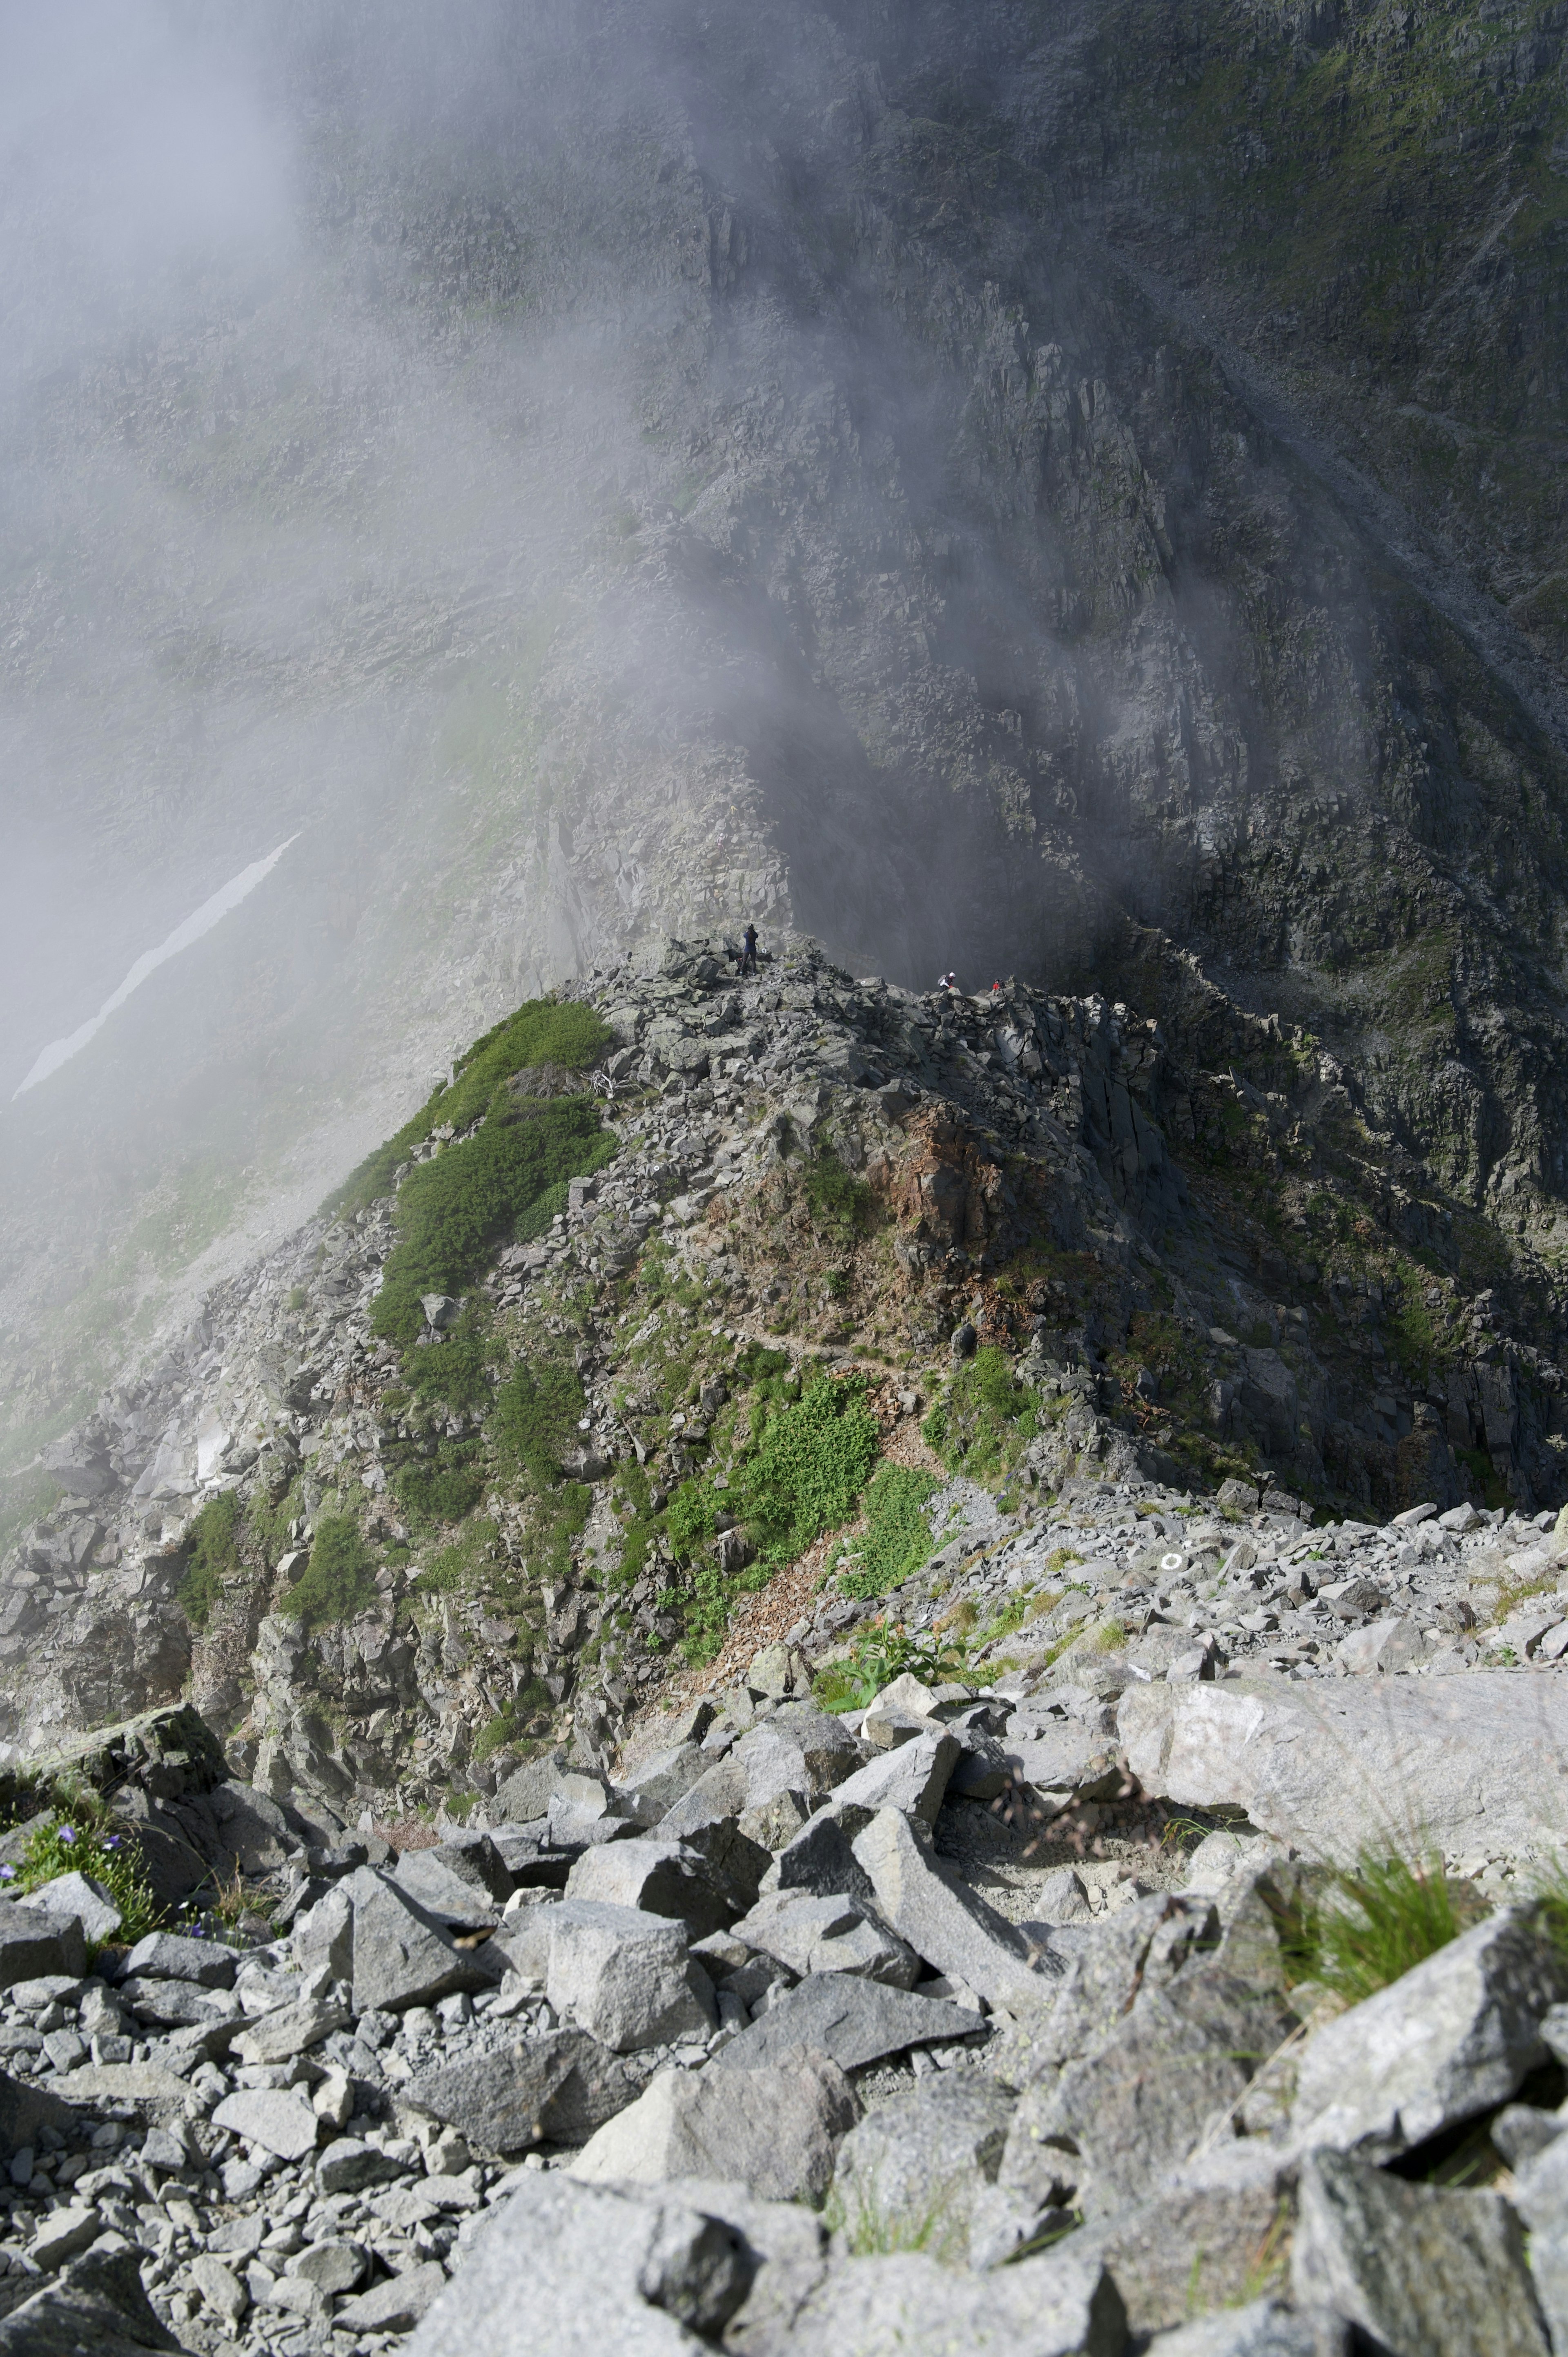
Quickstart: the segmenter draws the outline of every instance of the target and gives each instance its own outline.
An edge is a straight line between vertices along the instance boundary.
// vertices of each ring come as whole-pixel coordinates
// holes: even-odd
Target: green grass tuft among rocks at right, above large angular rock
[[[1316,1982],[1346,2006],[1377,1996],[1478,1916],[1481,1900],[1441,1860],[1375,1848],[1276,1907],[1285,1978]]]

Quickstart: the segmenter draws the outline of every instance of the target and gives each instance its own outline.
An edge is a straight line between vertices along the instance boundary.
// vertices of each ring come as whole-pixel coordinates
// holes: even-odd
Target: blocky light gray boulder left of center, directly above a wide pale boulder
[[[684,1923],[637,1907],[587,1900],[554,1907],[545,1987],[556,2013],[573,2013],[578,2027],[615,2053],[667,2046],[719,2020]]]

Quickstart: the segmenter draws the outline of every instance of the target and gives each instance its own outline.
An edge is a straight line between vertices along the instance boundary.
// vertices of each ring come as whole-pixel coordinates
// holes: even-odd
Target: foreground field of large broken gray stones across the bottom
[[[1549,1921],[1521,1890],[1349,2011],[1278,1921],[1365,1831],[1346,1758],[1547,1855],[1563,1692],[764,1692],[307,1855],[255,1947],[118,1949],[61,1879],[0,1909],[0,2352],[1561,2352]],[[1115,1881],[979,1841],[1134,1777],[1226,1822]],[[1434,2168],[1464,2138],[1483,2190]]]

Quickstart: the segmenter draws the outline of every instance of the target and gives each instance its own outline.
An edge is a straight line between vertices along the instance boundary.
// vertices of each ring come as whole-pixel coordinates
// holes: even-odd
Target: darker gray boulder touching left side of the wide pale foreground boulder
[[[420,2072],[403,2095],[457,2128],[476,2152],[526,2152],[535,2143],[585,2143],[625,2112],[637,2081],[585,2029],[552,2029]]]

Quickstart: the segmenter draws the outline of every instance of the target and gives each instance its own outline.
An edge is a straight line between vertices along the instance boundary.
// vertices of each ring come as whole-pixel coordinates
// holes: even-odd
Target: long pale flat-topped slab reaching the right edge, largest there
[[[1556,1850],[1568,1822],[1568,1678],[1226,1678],[1129,1685],[1115,1714],[1146,1794],[1245,1808],[1320,1857]]]

